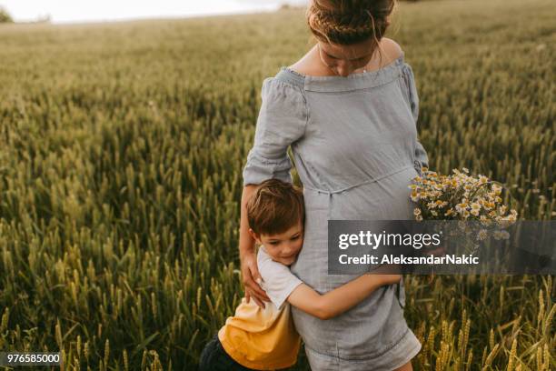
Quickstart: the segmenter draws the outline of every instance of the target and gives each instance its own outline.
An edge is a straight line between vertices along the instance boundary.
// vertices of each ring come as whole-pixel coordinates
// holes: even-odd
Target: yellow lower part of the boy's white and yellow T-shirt
[[[264,309],[243,297],[235,316],[226,319],[218,338],[237,363],[255,370],[273,370],[295,365],[301,336],[293,326],[290,304],[278,309],[265,302]]]

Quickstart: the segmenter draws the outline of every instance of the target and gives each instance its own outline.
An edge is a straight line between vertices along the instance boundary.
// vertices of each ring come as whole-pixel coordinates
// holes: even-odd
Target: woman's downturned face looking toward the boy
[[[318,42],[321,61],[334,74],[347,76],[369,64],[374,52],[372,39],[354,45],[332,45]]]

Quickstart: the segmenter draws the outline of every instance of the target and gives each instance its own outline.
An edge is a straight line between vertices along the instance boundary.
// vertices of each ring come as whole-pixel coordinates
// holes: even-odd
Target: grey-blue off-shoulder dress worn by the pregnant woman
[[[303,249],[292,272],[320,293],[354,278],[327,274],[328,219],[412,219],[408,186],[428,156],[417,139],[412,67],[403,58],[347,77],[282,67],[263,81],[243,185],[292,182],[292,146],[306,209]],[[381,371],[410,361],[421,344],[403,317],[404,303],[401,284],[383,286],[329,320],[292,307],[312,369]]]

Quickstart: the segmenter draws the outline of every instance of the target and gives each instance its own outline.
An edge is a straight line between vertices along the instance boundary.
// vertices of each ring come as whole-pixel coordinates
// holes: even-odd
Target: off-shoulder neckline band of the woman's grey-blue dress
[[[400,76],[401,66],[404,65],[404,53],[388,65],[374,71],[359,72],[345,77],[341,75],[303,75],[288,66],[280,67],[278,75],[287,75],[290,80],[295,80],[304,90],[316,92],[337,92],[364,89],[383,85]]]

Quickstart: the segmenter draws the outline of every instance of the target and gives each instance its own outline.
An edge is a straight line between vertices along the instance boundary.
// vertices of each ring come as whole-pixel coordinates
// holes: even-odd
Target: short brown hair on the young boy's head
[[[263,181],[247,202],[247,221],[257,235],[281,234],[305,223],[303,191],[279,179]]]

